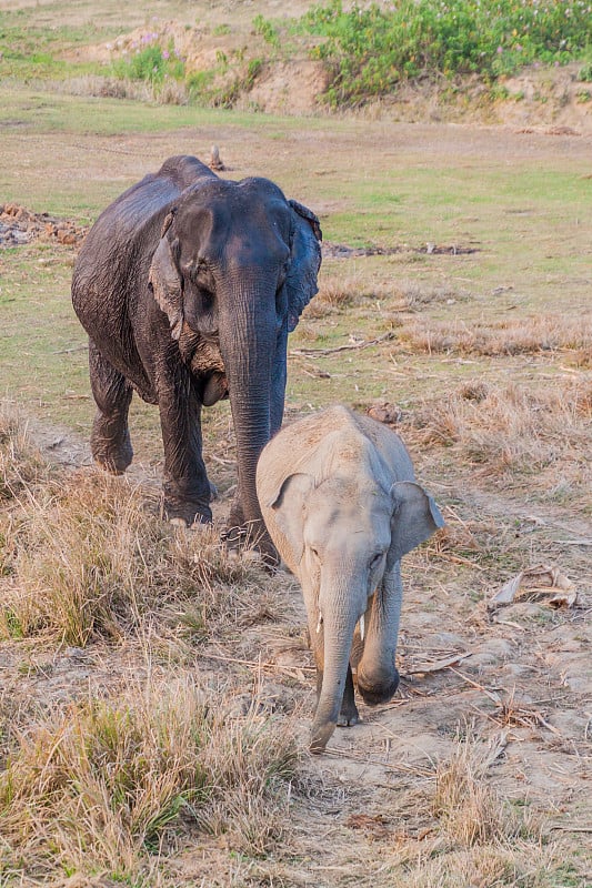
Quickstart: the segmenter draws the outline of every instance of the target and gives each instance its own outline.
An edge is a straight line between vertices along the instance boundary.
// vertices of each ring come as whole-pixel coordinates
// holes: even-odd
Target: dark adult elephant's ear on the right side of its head
[[[303,309],[319,292],[317,275],[321,266],[321,225],[312,210],[298,201],[288,201],[292,208],[294,232],[290,271],[285,280],[288,295],[288,330],[298,324]]]

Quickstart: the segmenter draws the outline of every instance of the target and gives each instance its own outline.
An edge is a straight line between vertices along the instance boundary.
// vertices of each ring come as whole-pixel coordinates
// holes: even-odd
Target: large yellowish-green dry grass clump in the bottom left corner
[[[132,877],[184,831],[268,851],[297,760],[291,726],[230,714],[188,676],[71,704],[23,731],[0,773],[0,864],[22,875]],[[0,867],[1,868],[1,867]],[[136,884],[136,882],[134,882]]]

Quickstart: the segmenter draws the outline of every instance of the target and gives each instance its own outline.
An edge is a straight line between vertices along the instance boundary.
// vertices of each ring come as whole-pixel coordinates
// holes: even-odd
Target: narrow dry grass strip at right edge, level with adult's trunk
[[[429,354],[515,355],[574,352],[581,366],[592,364],[592,319],[541,315],[525,319],[417,320],[400,324],[398,339],[413,351]]]

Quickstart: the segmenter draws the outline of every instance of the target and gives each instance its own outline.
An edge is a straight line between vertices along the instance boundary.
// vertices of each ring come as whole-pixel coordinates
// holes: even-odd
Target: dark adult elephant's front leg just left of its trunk
[[[202,458],[201,405],[190,381],[161,389],[159,411],[164,447],[164,515],[189,526],[210,523],[211,485]]]

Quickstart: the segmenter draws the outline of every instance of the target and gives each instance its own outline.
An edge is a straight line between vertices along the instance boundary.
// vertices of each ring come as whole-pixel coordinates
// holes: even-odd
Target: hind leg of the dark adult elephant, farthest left
[[[121,475],[130,465],[133,451],[128,427],[132,389],[89,340],[89,370],[97,413],[92,424],[92,458],[107,472]]]

